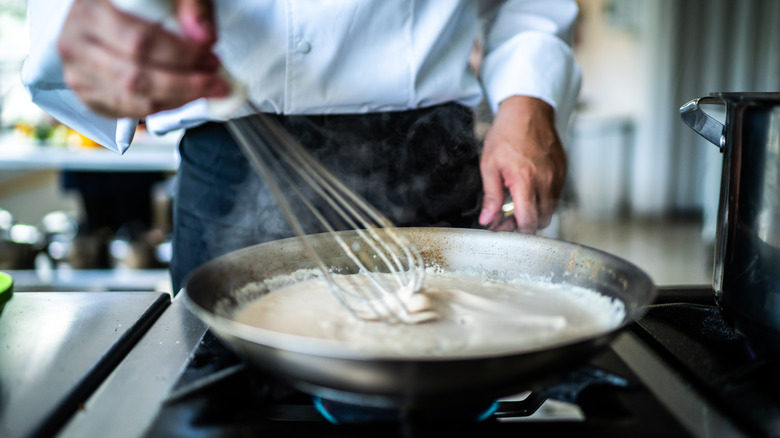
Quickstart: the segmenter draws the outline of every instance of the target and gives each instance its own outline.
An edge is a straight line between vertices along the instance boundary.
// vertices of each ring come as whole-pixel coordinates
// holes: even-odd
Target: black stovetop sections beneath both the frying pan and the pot
[[[727,412],[740,432],[778,436],[777,357],[761,356],[734,333],[711,292],[660,292],[657,304],[629,330],[699,388],[706,403]],[[315,407],[319,401],[245,365],[207,333],[147,436],[692,436],[652,389],[608,348],[557,384],[521,401],[500,401],[483,421],[463,412],[434,419],[370,412],[375,421],[364,422],[360,413],[359,420],[333,424]],[[581,416],[539,416],[547,399],[576,405]]]

